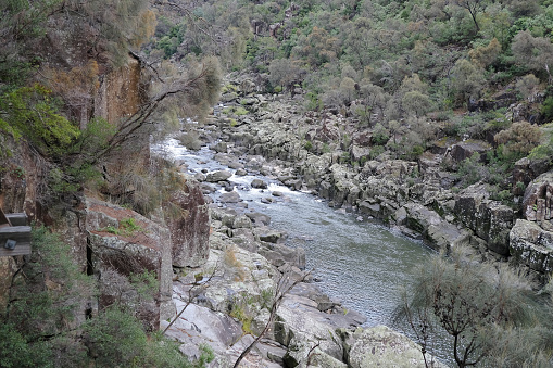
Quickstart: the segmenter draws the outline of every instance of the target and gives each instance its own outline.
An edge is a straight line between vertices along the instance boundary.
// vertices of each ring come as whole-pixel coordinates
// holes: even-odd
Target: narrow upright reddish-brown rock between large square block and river
[[[198,267],[210,252],[210,213],[199,183],[188,179],[186,189],[174,193],[169,202],[181,214],[167,220],[173,266]]]

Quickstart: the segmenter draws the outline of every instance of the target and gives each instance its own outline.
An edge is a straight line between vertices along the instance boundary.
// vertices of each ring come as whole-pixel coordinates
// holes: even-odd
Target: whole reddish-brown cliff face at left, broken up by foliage
[[[51,65],[67,69],[87,63],[86,53],[67,52],[71,49],[67,42],[73,43],[66,36],[53,31],[49,39],[52,42],[63,40],[53,49],[64,50],[51,60]],[[86,100],[80,113],[73,114],[80,116],[81,129],[92,116],[120,126],[138,112],[147,98],[148,83],[144,83],[144,73],[135,58],[128,56],[126,65],[118,68],[100,64],[99,71],[96,96]],[[98,194],[93,193],[60,193],[56,199],[51,192],[45,195],[52,167],[48,157],[40,156],[23,141],[9,143],[13,156],[0,170],[0,206],[7,213],[25,212],[29,220],[45,224],[60,233],[71,245],[72,258],[78,268],[98,276],[100,295],[91,313],[113,303],[126,304],[152,330],[159,328],[160,318],[174,315],[171,301],[174,257],[177,266],[199,266],[209,253],[209,213],[199,187],[189,181],[186,190],[172,195],[169,202],[183,216],[166,225],[163,216],[146,218],[128,208],[95,199]],[[102,165],[104,194],[112,198],[133,195],[136,186],[121,180],[129,172],[138,172],[141,180],[154,182],[149,176],[150,165],[149,136],[134,137],[131,144],[118,147]],[[153,213],[161,214],[162,211],[156,208]],[[127,233],[124,224],[129,221],[136,221],[137,229]],[[24,262],[22,256],[0,258],[0,310],[9,302],[10,280]],[[159,281],[153,300],[143,300],[131,282],[131,275],[144,271],[155,275]],[[84,317],[77,319],[84,320]]]

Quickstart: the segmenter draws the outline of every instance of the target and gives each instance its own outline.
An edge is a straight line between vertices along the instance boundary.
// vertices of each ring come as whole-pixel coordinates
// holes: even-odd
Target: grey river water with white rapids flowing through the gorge
[[[206,148],[188,151],[172,139],[164,149],[185,161],[192,175],[202,169],[235,172],[216,162]],[[254,178],[269,183],[268,189],[250,189]],[[305,249],[307,269],[314,269],[323,292],[339,300],[345,308],[365,315],[365,326],[393,325],[391,317],[401,302],[400,288],[410,285],[414,266],[431,254],[430,249],[382,225],[360,221],[357,215],[335,211],[314,195],[291,191],[262,175],[234,175],[228,180],[236,185],[235,190],[249,210],[268,215],[272,228],[288,233],[287,245]],[[284,200],[262,203],[273,191],[281,192]],[[216,201],[222,192],[211,195]],[[394,327],[411,335],[409,327]],[[445,346],[438,347],[437,356],[448,360],[444,350]]]

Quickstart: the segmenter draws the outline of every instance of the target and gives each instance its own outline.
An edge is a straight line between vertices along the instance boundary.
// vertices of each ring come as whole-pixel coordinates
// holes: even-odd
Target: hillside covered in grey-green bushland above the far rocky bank
[[[372,157],[416,160],[449,140],[487,141],[491,151],[458,168],[463,185],[482,178],[508,200],[517,182],[504,179],[514,163],[530,152],[551,156],[549,1],[194,5],[200,33],[190,18],[162,18],[151,55],[215,53],[228,71],[260,73],[264,91],[303,93],[305,110],[336,112],[368,130]]]

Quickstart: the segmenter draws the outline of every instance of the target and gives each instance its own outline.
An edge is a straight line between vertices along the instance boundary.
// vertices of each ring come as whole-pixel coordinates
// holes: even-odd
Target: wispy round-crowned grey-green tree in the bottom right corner
[[[442,331],[451,337],[450,354],[461,368],[551,364],[544,356],[553,345],[544,343],[549,340],[539,331],[546,328],[538,319],[540,310],[551,310],[548,301],[538,303],[531,283],[506,264],[479,263],[467,254],[453,249],[449,257],[432,256],[403,292],[398,316],[412,327],[423,354]]]

